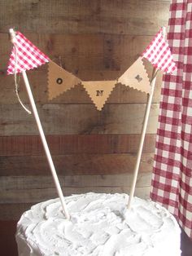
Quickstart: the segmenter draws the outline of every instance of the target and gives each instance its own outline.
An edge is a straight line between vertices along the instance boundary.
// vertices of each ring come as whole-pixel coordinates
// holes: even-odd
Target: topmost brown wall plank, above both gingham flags
[[[165,1],[2,1],[0,30],[12,26],[39,33],[153,34],[167,24],[168,7]]]

